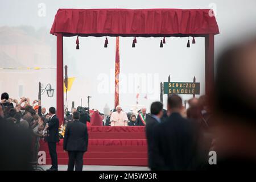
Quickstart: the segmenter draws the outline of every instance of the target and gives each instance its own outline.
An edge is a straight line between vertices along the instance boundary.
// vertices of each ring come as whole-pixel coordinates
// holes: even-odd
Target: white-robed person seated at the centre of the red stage
[[[111,126],[128,126],[128,118],[121,106],[117,106],[117,111],[110,117]]]

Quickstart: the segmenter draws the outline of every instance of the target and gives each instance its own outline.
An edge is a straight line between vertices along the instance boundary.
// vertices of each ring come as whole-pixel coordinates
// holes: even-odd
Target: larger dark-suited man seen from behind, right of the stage
[[[166,121],[155,126],[152,159],[155,170],[189,170],[196,156],[192,122],[181,117],[182,100],[176,94],[168,97]]]

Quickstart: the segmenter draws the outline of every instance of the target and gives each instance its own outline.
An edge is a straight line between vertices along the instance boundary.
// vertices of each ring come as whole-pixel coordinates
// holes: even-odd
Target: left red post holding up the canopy
[[[57,117],[59,125],[64,122],[64,101],[63,101],[63,34],[57,34]]]

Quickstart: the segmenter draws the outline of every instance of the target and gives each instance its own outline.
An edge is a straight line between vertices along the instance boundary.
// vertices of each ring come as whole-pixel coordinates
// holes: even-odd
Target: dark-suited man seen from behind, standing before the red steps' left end
[[[63,150],[68,151],[68,171],[82,171],[82,156],[87,151],[88,131],[84,123],[79,121],[80,113],[73,113],[73,122],[68,123],[63,142]]]

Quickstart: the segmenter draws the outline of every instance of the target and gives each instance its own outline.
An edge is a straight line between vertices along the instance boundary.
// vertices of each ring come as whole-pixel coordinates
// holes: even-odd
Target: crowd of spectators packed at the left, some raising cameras
[[[10,136],[10,138],[6,138],[7,141],[8,139],[16,138],[16,140],[10,142],[11,145],[9,142],[2,143],[5,150],[2,150],[4,154],[0,154],[0,156],[1,158],[4,156],[3,161],[6,161],[7,159],[10,159],[10,161],[6,161],[6,163],[3,162],[1,169],[32,169],[32,164],[37,164],[40,139],[44,138],[51,146],[53,135],[56,135],[55,133],[59,132],[59,123],[55,127],[56,132],[51,133],[51,130],[49,130],[49,128],[52,127],[52,125],[49,124],[49,120],[52,119],[54,115],[55,108],[50,107],[48,113],[46,113],[46,108],[42,108],[40,100],[34,100],[31,103],[30,98],[22,97],[20,98],[20,101],[18,101],[10,98],[9,94],[6,92],[1,94],[1,134],[3,137]],[[20,140],[21,138],[26,139]],[[56,136],[56,138],[59,138],[59,136]],[[20,148],[16,151],[10,149],[10,147],[15,148],[18,146]],[[12,155],[11,152],[17,152],[18,156],[21,157],[16,160],[15,156],[17,156],[17,154]],[[24,163],[22,159],[26,159],[26,163]],[[11,162],[14,162],[15,164],[12,164]]]

